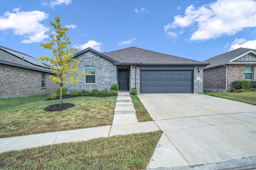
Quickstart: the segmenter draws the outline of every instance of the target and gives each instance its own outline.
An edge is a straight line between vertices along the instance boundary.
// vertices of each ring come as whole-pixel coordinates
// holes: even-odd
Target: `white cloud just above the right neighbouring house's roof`
[[[236,38],[234,40],[234,42],[231,44],[231,47],[228,51],[232,51],[232,50],[238,49],[240,47],[247,48],[247,49],[256,49],[256,39],[246,41],[246,39],[244,39],[244,38],[240,38],[240,39]]]

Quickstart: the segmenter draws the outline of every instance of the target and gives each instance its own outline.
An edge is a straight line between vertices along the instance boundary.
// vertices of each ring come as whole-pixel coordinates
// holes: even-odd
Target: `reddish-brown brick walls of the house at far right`
[[[253,80],[256,80],[256,66],[253,68]],[[244,80],[245,65],[228,65],[228,89],[232,88],[235,80]],[[204,90],[217,91],[226,90],[226,66],[220,66],[204,70]]]

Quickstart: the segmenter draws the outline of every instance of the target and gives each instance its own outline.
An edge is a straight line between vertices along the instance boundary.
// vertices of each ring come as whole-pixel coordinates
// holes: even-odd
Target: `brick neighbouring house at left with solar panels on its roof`
[[[0,46],[0,98],[55,93],[50,75],[49,64]]]

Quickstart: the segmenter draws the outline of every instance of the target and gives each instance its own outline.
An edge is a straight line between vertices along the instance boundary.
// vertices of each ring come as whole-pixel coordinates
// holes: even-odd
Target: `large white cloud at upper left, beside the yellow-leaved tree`
[[[22,43],[35,43],[48,38],[47,27],[40,23],[46,20],[48,14],[41,11],[20,11],[20,8],[14,8],[13,12],[5,12],[4,16],[0,17],[0,30],[12,30],[14,35],[23,37]]]

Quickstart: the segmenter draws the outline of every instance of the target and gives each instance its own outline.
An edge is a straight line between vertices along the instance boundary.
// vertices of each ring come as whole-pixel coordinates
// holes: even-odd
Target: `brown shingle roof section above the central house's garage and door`
[[[103,55],[118,61],[121,64],[149,64],[149,65],[208,65],[200,61],[194,61],[163,53],[157,53],[137,47],[129,47],[112,52],[104,52]]]

